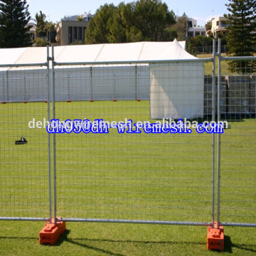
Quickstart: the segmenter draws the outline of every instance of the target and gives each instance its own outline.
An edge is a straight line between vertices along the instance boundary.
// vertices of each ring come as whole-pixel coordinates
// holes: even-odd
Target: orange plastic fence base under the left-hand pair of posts
[[[62,235],[64,232],[64,221],[58,221],[55,224],[47,222],[39,233],[39,242],[41,245],[45,243],[54,245],[58,241],[58,238],[60,238],[60,235]]]

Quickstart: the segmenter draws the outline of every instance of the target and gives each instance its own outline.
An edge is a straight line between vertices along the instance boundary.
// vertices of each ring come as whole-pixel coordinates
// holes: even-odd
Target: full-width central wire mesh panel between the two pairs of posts
[[[58,73],[71,68],[79,75],[70,78],[70,92],[79,90],[80,100],[67,102],[68,92],[58,87],[67,83],[67,76]],[[64,220],[210,223],[212,134],[199,134],[189,127],[207,121],[203,65],[186,79],[182,72],[171,73],[170,67],[160,66],[157,74],[154,68],[139,63],[56,65],[55,90],[63,100],[55,102],[50,132],[57,132],[56,214]],[[191,65],[183,65],[183,72],[193,71]],[[195,86],[200,96],[180,97],[191,91],[192,80],[199,82]],[[156,85],[157,92],[152,90]],[[90,92],[95,93],[93,97],[87,97]],[[56,99],[60,99],[58,93]],[[157,93],[154,102],[150,100],[153,93]],[[152,106],[162,99],[167,102],[166,95],[181,99],[175,104],[186,107],[181,117],[186,125],[172,114],[151,117]],[[173,107],[168,104],[167,108]]]

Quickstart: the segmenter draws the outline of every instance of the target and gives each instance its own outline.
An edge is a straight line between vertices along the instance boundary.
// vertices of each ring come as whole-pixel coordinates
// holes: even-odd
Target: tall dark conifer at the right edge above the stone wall
[[[226,4],[230,14],[225,14],[229,19],[228,27],[228,54],[235,56],[252,56],[256,45],[256,0],[228,0]],[[246,68],[255,70],[255,63],[245,61],[231,62],[230,69],[236,72],[246,72]],[[236,70],[235,70],[236,68]],[[252,71],[252,70],[251,70]]]

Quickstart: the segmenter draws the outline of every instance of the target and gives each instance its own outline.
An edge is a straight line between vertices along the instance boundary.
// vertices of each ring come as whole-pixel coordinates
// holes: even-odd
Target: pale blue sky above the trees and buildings
[[[95,11],[104,4],[114,4],[117,6],[121,0],[27,0],[28,11],[31,18],[35,18],[36,13],[42,11],[46,14],[48,21],[60,21],[64,16],[81,15],[86,13],[95,14]],[[123,1],[125,4],[132,1]],[[211,18],[228,14],[228,0],[166,0],[162,1],[173,10],[178,16],[183,13],[189,18],[195,18],[198,26],[204,26]]]

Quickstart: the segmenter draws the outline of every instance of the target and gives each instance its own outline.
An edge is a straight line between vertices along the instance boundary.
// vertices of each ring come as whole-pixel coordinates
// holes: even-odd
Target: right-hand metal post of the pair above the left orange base
[[[52,45],[52,79],[53,79],[53,119],[55,119],[55,72],[54,72],[54,48]],[[53,133],[53,218],[56,223],[56,157],[55,157],[55,133]]]

